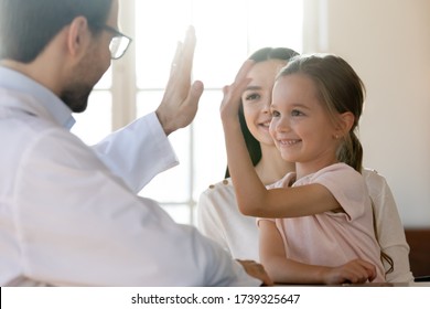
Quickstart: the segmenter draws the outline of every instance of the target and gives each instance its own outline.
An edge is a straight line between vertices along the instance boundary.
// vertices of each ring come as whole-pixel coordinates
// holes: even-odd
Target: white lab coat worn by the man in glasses
[[[215,242],[137,196],[176,158],[150,114],[94,149],[68,108],[0,67],[0,285],[258,286]]]

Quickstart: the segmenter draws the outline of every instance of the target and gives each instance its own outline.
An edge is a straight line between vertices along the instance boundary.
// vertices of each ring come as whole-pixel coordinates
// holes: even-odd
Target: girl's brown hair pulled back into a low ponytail
[[[363,147],[355,131],[364,105],[363,81],[346,61],[330,54],[295,56],[279,72],[277,78],[291,74],[302,74],[313,81],[319,99],[334,124],[338,114],[350,111],[354,115],[354,124],[350,132],[342,137],[336,158],[362,172]]]

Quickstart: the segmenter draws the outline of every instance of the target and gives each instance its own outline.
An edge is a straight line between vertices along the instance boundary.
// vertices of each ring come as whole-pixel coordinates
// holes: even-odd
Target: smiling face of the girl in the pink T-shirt
[[[337,131],[310,77],[279,77],[270,110],[270,135],[284,160],[297,162],[304,173],[336,162]]]

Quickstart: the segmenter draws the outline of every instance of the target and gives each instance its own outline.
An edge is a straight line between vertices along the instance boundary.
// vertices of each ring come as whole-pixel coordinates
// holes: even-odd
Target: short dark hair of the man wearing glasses
[[[112,0],[0,0],[0,58],[32,62],[64,26],[82,15],[97,33]]]

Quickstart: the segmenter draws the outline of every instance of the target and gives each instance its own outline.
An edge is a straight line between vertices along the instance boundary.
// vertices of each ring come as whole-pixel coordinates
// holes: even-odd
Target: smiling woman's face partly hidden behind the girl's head
[[[284,65],[287,62],[281,60],[256,63],[248,73],[251,82],[241,95],[246,125],[251,135],[261,143],[273,145],[269,134],[271,93],[275,77]]]

